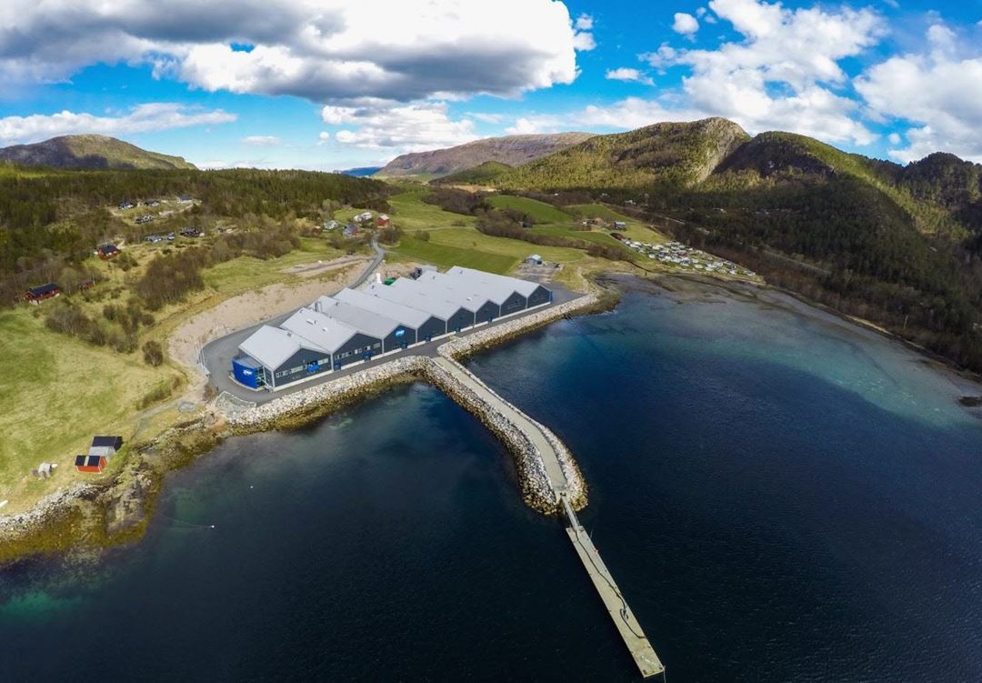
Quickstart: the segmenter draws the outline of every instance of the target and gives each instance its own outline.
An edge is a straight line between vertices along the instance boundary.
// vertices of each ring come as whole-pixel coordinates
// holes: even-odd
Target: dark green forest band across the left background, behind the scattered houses
[[[187,220],[221,216],[283,220],[321,217],[325,202],[383,205],[384,183],[308,171],[53,171],[6,167],[0,173],[0,304],[62,264],[90,256],[114,239],[152,230],[122,219],[110,207],[123,201],[187,196]]]

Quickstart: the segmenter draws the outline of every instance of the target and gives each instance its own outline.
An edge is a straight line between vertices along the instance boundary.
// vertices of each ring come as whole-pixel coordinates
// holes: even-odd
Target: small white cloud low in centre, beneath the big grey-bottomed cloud
[[[453,120],[445,102],[380,104],[369,107],[325,106],[325,123],[352,125],[335,140],[366,149],[391,149],[394,153],[453,146],[476,140],[469,119]]]

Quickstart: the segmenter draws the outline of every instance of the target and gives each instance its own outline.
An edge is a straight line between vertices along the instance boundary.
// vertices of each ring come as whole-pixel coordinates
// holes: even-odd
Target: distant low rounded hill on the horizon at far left
[[[106,136],[63,136],[0,148],[0,159],[27,166],[67,169],[193,169],[180,156],[140,149]]]

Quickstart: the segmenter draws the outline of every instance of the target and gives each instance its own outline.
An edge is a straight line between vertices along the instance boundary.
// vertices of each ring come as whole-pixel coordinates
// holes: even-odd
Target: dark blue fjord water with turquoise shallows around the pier
[[[916,355],[631,290],[470,367],[571,447],[670,680],[982,680],[982,422]],[[0,599],[5,681],[636,677],[558,523],[421,385],[226,442],[136,547]]]

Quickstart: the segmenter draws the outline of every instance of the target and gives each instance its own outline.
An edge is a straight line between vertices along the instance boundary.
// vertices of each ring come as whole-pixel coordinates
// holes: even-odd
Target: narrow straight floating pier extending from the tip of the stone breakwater
[[[566,533],[569,535],[570,541],[573,541],[576,554],[579,555],[580,561],[586,567],[586,573],[590,575],[594,588],[597,589],[597,593],[604,601],[604,606],[607,607],[607,612],[614,620],[614,625],[617,627],[618,633],[621,634],[621,638],[624,639],[624,644],[627,645],[627,650],[633,657],[634,663],[641,671],[641,676],[644,678],[658,674],[664,676],[665,665],[655,654],[655,649],[651,647],[648,637],[644,635],[641,625],[637,623],[634,613],[630,611],[627,599],[621,595],[621,589],[618,588],[610,570],[600,558],[600,552],[597,551],[593,541],[590,540],[586,530],[576,518],[573,506],[570,505],[565,495],[562,496],[562,502],[563,510],[570,521]]]

